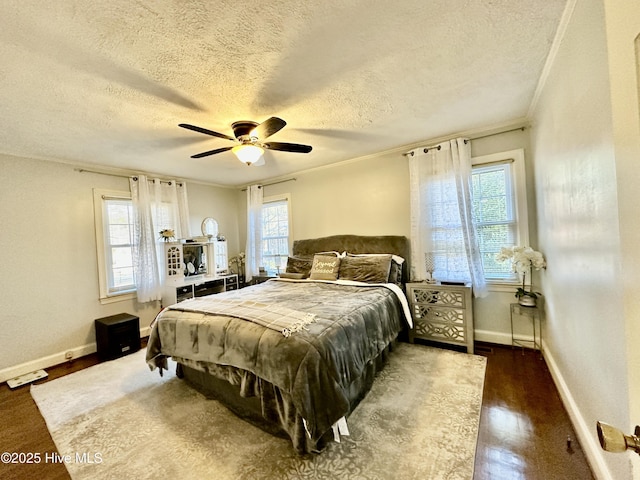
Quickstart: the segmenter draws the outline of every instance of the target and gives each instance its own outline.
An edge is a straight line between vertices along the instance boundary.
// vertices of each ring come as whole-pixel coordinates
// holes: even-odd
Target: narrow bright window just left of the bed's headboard
[[[284,272],[291,233],[289,196],[265,197],[262,201],[262,263],[270,275]]]

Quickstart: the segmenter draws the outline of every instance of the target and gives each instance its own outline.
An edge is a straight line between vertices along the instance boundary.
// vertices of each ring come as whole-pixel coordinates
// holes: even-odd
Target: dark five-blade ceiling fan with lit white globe
[[[233,128],[235,138],[225,135],[224,133],[214,132],[187,123],[181,123],[178,126],[186,128],[187,130],[193,130],[194,132],[204,133],[205,135],[225,138],[232,142],[239,142],[238,145],[233,147],[216,148],[215,150],[191,155],[191,158],[202,158],[231,150],[242,163],[246,163],[247,165],[263,165],[264,159],[262,158],[262,154],[264,153],[264,149],[295,153],[309,153],[311,151],[311,146],[301,145],[299,143],[264,142],[265,139],[282,130],[286,124],[287,122],[278,117],[271,117],[262,123],[249,120],[234,122],[231,128]]]

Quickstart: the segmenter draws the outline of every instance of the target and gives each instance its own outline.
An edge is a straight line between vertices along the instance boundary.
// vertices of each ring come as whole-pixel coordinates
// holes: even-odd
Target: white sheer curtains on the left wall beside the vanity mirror
[[[129,179],[134,212],[133,261],[138,302],[162,298],[164,246],[160,230],[171,229],[176,240],[191,236],[187,185],[175,180]]]

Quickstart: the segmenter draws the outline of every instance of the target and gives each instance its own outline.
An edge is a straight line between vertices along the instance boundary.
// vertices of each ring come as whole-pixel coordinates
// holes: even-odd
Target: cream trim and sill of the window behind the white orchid
[[[507,150],[504,152],[480,155],[471,158],[471,170],[473,167],[485,167],[491,164],[511,162],[511,185],[515,202],[516,219],[516,245],[529,245],[529,214],[527,207],[527,183],[524,163],[524,149]],[[531,279],[527,276],[527,281]],[[511,291],[514,285],[519,285],[518,280],[486,279],[487,285],[493,290],[500,290],[504,286]],[[506,291],[506,290],[505,290]]]

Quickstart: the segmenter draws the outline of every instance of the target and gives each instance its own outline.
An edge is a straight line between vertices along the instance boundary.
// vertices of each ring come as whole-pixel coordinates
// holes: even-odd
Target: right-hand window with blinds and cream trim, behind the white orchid
[[[517,282],[502,247],[528,245],[524,152],[513,150],[472,159],[473,218],[487,281]]]

